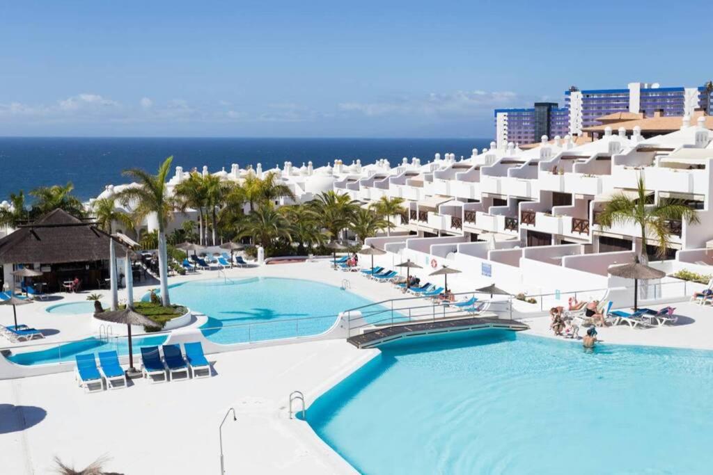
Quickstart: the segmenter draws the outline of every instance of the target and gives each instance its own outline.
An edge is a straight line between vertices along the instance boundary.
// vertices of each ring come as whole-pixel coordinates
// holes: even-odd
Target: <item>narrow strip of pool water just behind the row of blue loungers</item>
[[[163,345],[166,338],[166,335],[132,338],[131,348],[133,349],[134,355],[140,355],[140,347]],[[116,350],[120,356],[128,355],[128,341],[126,338],[110,338],[107,341],[90,337],[85,338],[84,340],[56,345],[51,348],[46,348],[45,350],[16,353],[7,357],[7,359],[11,362],[17,363],[18,365],[44,365],[47,363],[74,361],[75,355],[111,350]],[[136,364],[136,362],[138,362],[138,360],[134,360],[134,364]]]

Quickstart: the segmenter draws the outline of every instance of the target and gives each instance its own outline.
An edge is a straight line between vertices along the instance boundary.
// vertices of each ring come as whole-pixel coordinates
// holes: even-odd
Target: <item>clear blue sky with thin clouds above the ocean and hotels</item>
[[[0,135],[491,137],[572,84],[711,79],[707,5],[0,1]]]

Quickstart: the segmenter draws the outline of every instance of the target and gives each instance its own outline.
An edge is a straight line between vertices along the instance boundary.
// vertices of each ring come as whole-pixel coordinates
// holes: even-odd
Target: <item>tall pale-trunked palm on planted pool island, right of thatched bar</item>
[[[135,221],[140,222],[150,214],[158,221],[158,273],[161,288],[161,303],[170,305],[168,296],[168,261],[166,256],[166,226],[173,217],[175,199],[170,197],[166,186],[166,177],[170,171],[173,156],[168,157],[158,167],[155,175],[143,169],[132,168],[124,170],[123,174],[133,177],[138,182],[137,187],[127,187],[117,194],[117,199],[128,206],[133,204]]]

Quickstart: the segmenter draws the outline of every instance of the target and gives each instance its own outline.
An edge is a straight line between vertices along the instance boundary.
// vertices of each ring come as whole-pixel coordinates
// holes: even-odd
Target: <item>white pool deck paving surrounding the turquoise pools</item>
[[[379,258],[375,261],[378,265]],[[424,276],[428,271],[417,273]],[[336,286],[348,278],[354,293],[372,301],[401,296],[389,285],[355,273],[331,271],[324,261],[232,269],[227,274],[231,278],[307,278]],[[205,271],[171,282],[211,277],[215,273]],[[468,283],[459,281],[457,275],[448,283],[456,291],[468,290]],[[145,288],[137,289],[137,297],[141,290]],[[91,335],[87,315],[52,315],[44,308],[81,301],[86,295],[22,306],[19,320],[55,330],[46,343],[84,338]],[[106,306],[108,296],[103,301]],[[599,337],[607,344],[713,350],[713,308],[671,305],[682,315],[679,325],[601,328]],[[11,308],[0,309],[0,322],[9,323],[11,318]],[[555,338],[548,318],[523,321],[531,327],[528,333]],[[70,372],[1,380],[2,473],[51,473],[53,456],[80,468],[103,454],[111,458],[105,469],[125,474],[216,473],[220,467],[218,426],[229,407],[235,407],[237,422],[229,417],[223,428],[227,474],[354,473],[306,423],[288,418],[287,397],[300,390],[309,404],[378,352],[356,350],[344,340],[253,348],[211,355],[208,359],[215,361],[217,374],[210,379],[155,385],[137,380],[126,389],[95,394],[77,387]]]

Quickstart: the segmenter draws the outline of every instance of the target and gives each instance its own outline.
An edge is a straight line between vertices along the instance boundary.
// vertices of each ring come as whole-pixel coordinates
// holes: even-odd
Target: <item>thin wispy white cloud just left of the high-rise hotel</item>
[[[391,98],[371,103],[340,103],[339,110],[369,116],[379,115],[471,115],[483,110],[512,105],[518,95],[509,91],[483,90],[431,93],[416,98]]]

